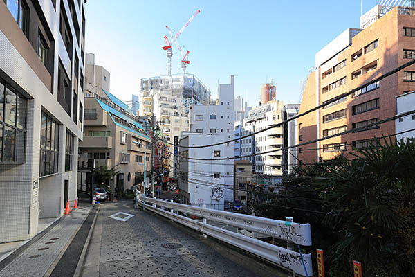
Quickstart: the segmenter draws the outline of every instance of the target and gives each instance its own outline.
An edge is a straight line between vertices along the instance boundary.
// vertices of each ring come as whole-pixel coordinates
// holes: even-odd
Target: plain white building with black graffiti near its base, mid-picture
[[[190,132],[182,134],[181,144],[208,145],[212,142],[228,141],[233,138],[234,123],[234,76],[230,76],[230,84],[219,84],[219,98],[216,105],[195,105],[190,108]],[[194,134],[199,133],[199,134]],[[186,138],[186,139],[185,139]],[[180,148],[180,152],[187,149]],[[198,148],[195,151],[188,150],[188,157],[207,157],[218,159],[220,157],[232,157],[234,154],[233,143],[225,143],[212,148]],[[183,160],[183,159],[182,159]],[[179,171],[186,175],[193,174],[197,177],[193,181],[201,181],[212,185],[222,185],[224,188],[221,198],[232,201],[233,199],[233,160],[222,161],[180,161]],[[213,170],[213,171],[212,171]],[[192,172],[192,171],[196,171]],[[180,178],[179,178],[180,179]],[[183,183],[182,173],[182,183]],[[192,186],[189,183],[188,186]],[[210,188],[214,193],[215,186]],[[192,190],[183,190],[192,194]],[[185,195],[185,194],[184,194]],[[185,197],[187,197],[185,195]],[[188,199],[194,199],[188,197]],[[199,199],[199,198],[197,198]],[[197,202],[196,199],[196,202]],[[223,202],[223,199],[220,201]],[[203,201],[208,201],[204,199]],[[215,200],[216,201],[216,200]],[[219,200],[218,200],[219,201]],[[193,204],[193,202],[190,202]],[[221,207],[223,209],[223,206]]]

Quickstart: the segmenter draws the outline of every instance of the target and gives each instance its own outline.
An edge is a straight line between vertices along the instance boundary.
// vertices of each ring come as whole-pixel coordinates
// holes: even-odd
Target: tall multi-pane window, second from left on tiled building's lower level
[[[40,134],[40,176],[58,172],[59,125],[55,120],[42,112]]]

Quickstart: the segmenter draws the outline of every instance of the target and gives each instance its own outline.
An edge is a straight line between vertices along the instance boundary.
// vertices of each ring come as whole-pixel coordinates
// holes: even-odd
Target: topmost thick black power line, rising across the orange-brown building
[[[231,139],[229,141],[222,141],[220,143],[213,143],[213,144],[210,144],[210,145],[194,145],[194,146],[180,146],[180,147],[182,147],[182,148],[208,148],[208,147],[212,147],[212,146],[216,146],[216,145],[221,145],[221,144],[225,144],[225,143],[231,143],[233,141],[238,141],[240,139],[249,138],[251,136],[254,136],[255,134],[259,134],[261,132],[265,132],[268,129],[273,129],[275,127],[279,127],[279,126],[284,125],[284,124],[286,124],[286,123],[288,123],[288,122],[290,122],[292,120],[295,120],[295,119],[297,119],[299,117],[305,116],[306,114],[310,114],[311,112],[316,111],[317,109],[320,109],[322,107],[325,107],[326,105],[329,105],[332,102],[335,102],[337,100],[340,100],[340,99],[342,99],[342,98],[344,98],[346,96],[349,96],[349,95],[355,93],[356,91],[359,91],[360,89],[363,89],[363,88],[367,87],[369,84],[374,84],[376,82],[379,82],[380,80],[383,80],[383,79],[389,77],[389,75],[392,75],[392,74],[394,74],[394,73],[396,73],[396,72],[398,72],[398,71],[400,71],[402,69],[405,69],[407,66],[411,66],[412,64],[415,64],[415,60],[411,60],[411,61],[409,61],[409,62],[407,62],[407,63],[405,63],[405,64],[403,64],[401,66],[398,66],[396,69],[393,69],[393,70],[385,73],[384,75],[381,75],[380,77],[378,77],[378,78],[376,78],[374,80],[371,80],[369,82],[366,82],[365,84],[362,84],[359,87],[357,87],[355,89],[352,89],[349,92],[342,93],[339,96],[336,96],[335,98],[332,98],[331,100],[327,100],[323,104],[318,105],[317,107],[314,107],[313,109],[308,109],[308,111],[304,111],[304,113],[302,113],[302,114],[297,114],[297,116],[293,116],[292,118],[288,118],[287,120],[283,120],[282,123],[279,123],[279,124],[276,124],[276,125],[275,124],[274,125],[270,125],[269,127],[266,127],[264,129],[261,129],[260,131],[252,132],[251,134],[248,134],[246,136],[241,136],[241,137],[239,137],[237,139]],[[164,139],[162,139],[162,141],[164,141],[165,143],[167,143],[169,145],[174,145],[173,143],[170,143],[169,141],[165,141]]]

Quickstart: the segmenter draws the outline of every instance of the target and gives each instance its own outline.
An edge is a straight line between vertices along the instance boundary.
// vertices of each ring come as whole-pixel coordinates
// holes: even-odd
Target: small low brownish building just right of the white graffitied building
[[[241,200],[246,206],[249,186],[252,186],[255,178],[252,178],[252,164],[250,161],[234,161],[234,199]]]

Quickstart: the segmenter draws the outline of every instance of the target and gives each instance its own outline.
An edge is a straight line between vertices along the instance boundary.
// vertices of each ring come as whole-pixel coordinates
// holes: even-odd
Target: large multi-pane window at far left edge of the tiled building
[[[0,162],[24,162],[26,98],[0,79]]]

